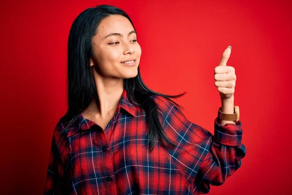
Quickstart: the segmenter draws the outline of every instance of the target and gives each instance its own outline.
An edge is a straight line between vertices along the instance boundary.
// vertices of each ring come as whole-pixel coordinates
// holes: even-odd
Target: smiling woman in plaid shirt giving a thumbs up
[[[224,74],[229,55],[225,50],[214,77],[225,114],[234,109],[234,70]],[[140,57],[123,10],[100,5],[74,20],[69,108],[55,126],[45,195],[205,194],[240,167],[246,150],[238,118],[217,117],[215,136],[188,121],[170,99],[185,93],[150,90],[140,76]],[[230,75],[228,88],[223,80]]]

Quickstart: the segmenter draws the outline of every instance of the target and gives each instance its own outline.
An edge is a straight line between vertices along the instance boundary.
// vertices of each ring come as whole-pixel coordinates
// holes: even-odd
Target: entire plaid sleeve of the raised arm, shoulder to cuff
[[[210,185],[223,184],[241,166],[246,154],[241,121],[222,126],[216,117],[213,135],[187,120],[173,102],[159,96],[154,99],[161,109],[164,131],[177,146],[168,153],[193,194],[208,193]]]

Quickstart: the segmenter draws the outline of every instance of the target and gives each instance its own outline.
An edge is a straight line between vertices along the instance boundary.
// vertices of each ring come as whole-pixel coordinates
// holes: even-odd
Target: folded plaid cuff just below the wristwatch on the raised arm
[[[236,124],[227,123],[220,125],[220,118],[215,118],[215,140],[227,146],[239,146],[241,144],[242,127],[241,121],[235,121]]]

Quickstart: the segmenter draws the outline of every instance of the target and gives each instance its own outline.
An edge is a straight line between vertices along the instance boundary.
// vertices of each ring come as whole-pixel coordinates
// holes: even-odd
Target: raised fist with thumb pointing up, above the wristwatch
[[[231,46],[228,46],[223,52],[219,65],[214,71],[215,86],[219,91],[221,101],[234,98],[236,81],[235,68],[226,65],[230,54]]]

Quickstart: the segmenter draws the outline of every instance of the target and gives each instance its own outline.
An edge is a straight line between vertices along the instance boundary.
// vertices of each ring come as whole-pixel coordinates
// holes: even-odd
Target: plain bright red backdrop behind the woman
[[[232,46],[242,167],[210,195],[288,195],[291,161],[291,1],[63,0],[0,2],[0,194],[42,194],[55,124],[66,111],[67,40],[88,7],[111,4],[134,22],[141,74],[177,94],[188,119],[214,133],[214,68]]]

